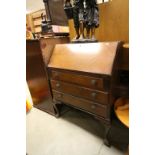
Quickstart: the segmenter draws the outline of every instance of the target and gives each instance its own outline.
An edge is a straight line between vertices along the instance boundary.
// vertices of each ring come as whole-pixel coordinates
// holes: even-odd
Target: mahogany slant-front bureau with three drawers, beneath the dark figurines
[[[121,42],[57,44],[48,64],[56,116],[59,104],[89,113],[107,124],[114,103]]]

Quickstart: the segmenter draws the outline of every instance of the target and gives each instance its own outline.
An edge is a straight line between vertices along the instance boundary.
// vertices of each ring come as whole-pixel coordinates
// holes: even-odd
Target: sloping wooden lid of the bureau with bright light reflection
[[[119,42],[57,44],[48,67],[111,75]]]

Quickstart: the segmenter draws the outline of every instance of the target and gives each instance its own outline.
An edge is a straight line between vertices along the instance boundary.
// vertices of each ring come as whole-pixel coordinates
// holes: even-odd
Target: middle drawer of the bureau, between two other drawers
[[[108,93],[96,91],[93,89],[81,87],[74,84],[69,84],[60,81],[51,80],[52,89],[60,91],[65,94],[70,94],[80,98],[85,98],[91,101],[99,102],[101,104],[108,104]]]

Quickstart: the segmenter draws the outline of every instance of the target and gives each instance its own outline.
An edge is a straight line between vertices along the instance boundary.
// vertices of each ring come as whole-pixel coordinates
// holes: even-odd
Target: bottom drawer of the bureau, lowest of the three
[[[53,97],[58,101],[73,105],[77,108],[81,108],[98,116],[107,118],[108,108],[106,105],[96,104],[94,102],[63,94],[57,91],[53,91]]]

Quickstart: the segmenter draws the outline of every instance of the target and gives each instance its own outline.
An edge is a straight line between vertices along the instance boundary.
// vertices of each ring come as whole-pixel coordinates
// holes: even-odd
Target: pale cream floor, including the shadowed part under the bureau
[[[77,110],[66,110],[55,118],[32,108],[26,116],[28,155],[124,155],[103,143],[103,128],[92,117]]]

